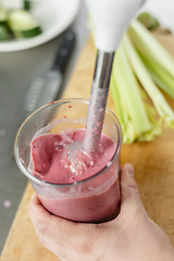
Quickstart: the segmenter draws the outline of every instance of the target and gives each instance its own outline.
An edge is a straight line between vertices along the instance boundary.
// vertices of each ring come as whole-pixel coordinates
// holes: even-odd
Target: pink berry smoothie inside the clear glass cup
[[[66,184],[58,186],[55,197],[37,191],[51,213],[78,222],[102,222],[119,212],[119,159],[112,159],[116,148],[102,134],[99,151],[86,154],[80,149],[84,134],[77,129],[36,137],[30,144],[29,169],[39,179]]]

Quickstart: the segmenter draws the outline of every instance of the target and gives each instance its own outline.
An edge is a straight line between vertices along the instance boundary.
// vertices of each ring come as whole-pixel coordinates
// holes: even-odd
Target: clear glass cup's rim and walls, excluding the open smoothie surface
[[[52,184],[39,179],[28,171],[30,142],[37,132],[59,133],[85,128],[88,101],[64,99],[35,111],[17,132],[14,154],[21,171],[28,177],[40,202],[51,213],[77,222],[104,222],[120,211],[121,125],[109,109],[105,110],[102,133],[116,145],[112,160],[99,173],[73,184]]]

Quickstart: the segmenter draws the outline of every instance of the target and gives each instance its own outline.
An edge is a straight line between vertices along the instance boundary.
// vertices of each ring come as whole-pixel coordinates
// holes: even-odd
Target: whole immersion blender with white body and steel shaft
[[[97,60],[89,98],[83,151],[95,153],[104,120],[114,52],[130,20],[146,0],[86,0],[95,25]]]

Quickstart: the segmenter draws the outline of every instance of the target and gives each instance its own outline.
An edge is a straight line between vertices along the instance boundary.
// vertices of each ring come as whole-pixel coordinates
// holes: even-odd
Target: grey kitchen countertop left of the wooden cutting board
[[[71,25],[77,40],[65,73],[62,92],[86,42],[86,7],[84,1],[80,1],[78,15]],[[50,67],[61,39],[62,35],[28,50],[0,52],[0,252],[27,184],[13,157],[14,138],[26,116],[23,100],[32,79]]]

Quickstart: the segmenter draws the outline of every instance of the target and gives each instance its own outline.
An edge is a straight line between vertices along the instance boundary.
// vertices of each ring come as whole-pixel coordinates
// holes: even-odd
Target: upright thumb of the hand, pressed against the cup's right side
[[[121,213],[135,213],[144,209],[138,186],[134,179],[134,167],[125,164],[121,174]]]

